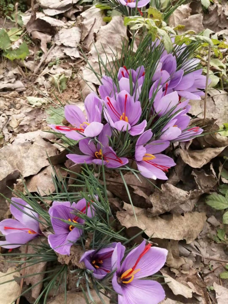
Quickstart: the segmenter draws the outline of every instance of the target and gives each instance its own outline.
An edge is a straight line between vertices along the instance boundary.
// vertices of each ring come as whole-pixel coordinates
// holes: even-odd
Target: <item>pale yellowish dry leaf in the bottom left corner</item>
[[[3,284],[4,282],[13,280],[15,277],[20,277],[18,271],[10,274],[15,271],[15,269],[16,268],[10,267],[6,272],[8,275],[0,272],[0,304],[13,304],[20,294],[20,286],[16,281]]]

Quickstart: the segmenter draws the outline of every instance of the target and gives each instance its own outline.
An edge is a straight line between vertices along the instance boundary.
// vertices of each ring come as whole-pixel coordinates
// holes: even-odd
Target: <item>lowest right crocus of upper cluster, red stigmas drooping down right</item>
[[[175,166],[171,157],[160,154],[169,146],[167,140],[154,140],[146,144],[153,133],[151,130],[144,132],[139,136],[135,147],[135,160],[140,173],[152,179],[168,179],[165,172]]]

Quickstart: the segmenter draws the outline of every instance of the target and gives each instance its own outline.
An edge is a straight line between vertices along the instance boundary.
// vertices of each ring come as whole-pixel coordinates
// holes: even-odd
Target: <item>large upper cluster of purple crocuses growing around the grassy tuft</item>
[[[104,76],[99,86],[101,98],[94,92],[85,98],[86,116],[76,105],[66,105],[65,117],[71,126],[50,125],[65,136],[80,140],[83,155],[68,154],[67,157],[76,164],[99,164],[107,168],[123,166],[129,157],[133,157],[143,176],[167,179],[165,173],[175,163],[162,152],[170,141],[186,141],[203,131],[197,126],[189,127],[190,117],[187,115],[191,108],[189,99],[200,99],[206,86],[202,69],[189,70],[197,63],[197,59],[188,60],[177,70],[176,57],[163,51],[148,92],[148,104],[152,107],[147,111],[154,117],[153,121],[163,117],[167,120],[160,135],[156,134],[156,140],[150,130],[153,121],[151,125],[142,115],[140,93],[145,78],[144,67],[136,70],[125,66],[119,68],[117,83]],[[118,157],[118,150],[116,153],[115,146],[109,145],[109,138],[118,137],[122,132],[131,136],[134,155]],[[135,136],[139,136],[137,141]]]

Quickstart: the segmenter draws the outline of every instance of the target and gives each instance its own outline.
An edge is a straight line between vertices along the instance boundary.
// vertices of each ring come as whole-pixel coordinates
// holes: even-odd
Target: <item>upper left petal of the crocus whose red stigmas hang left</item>
[[[65,105],[64,113],[67,121],[74,127],[79,127],[87,121],[82,110],[76,105]]]

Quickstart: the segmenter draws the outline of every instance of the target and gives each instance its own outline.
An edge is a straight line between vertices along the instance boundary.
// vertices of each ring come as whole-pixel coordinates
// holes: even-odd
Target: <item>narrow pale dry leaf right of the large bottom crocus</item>
[[[160,271],[162,275],[164,275],[164,280],[169,286],[169,288],[172,290],[174,295],[183,295],[185,298],[192,298],[192,288],[181,284],[180,282],[169,276],[163,269],[161,269]]]

